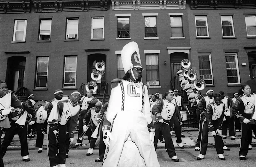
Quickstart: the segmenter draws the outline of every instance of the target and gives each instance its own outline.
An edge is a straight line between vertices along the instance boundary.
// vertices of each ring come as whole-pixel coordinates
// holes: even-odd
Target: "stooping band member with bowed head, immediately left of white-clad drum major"
[[[84,132],[89,132],[87,133],[88,136],[91,136],[92,133],[95,131],[96,127],[99,125],[97,118],[98,118],[98,115],[100,114],[100,109],[101,109],[101,103],[97,102],[95,106],[90,108],[88,112],[84,115],[83,129],[84,129]],[[89,122],[91,122],[91,126],[90,126],[90,130],[88,131],[87,125],[89,124]],[[90,156],[93,154],[93,149],[95,147],[96,140],[97,138],[91,137],[91,140],[89,141],[90,148],[88,149],[86,156]]]

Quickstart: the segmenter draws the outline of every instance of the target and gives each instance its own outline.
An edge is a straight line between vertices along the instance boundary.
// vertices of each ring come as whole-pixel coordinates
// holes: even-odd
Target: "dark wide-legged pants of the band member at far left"
[[[2,157],[7,151],[7,147],[12,142],[12,139],[15,134],[18,134],[20,137],[20,147],[21,147],[21,156],[28,155],[28,139],[27,139],[28,125],[27,122],[24,126],[16,124],[14,121],[11,122],[11,127],[6,129],[4,135],[4,141],[1,145],[1,155]]]

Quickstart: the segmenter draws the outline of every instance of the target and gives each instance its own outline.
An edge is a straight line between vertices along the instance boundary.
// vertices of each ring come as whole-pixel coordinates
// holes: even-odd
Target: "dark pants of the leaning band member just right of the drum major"
[[[169,157],[172,158],[173,156],[176,156],[175,148],[172,142],[172,136],[170,134],[169,125],[167,125],[166,123],[157,122],[154,126],[156,130],[155,140],[154,140],[155,150],[157,147],[158,137],[161,130],[164,135],[165,148],[167,149],[167,153]]]

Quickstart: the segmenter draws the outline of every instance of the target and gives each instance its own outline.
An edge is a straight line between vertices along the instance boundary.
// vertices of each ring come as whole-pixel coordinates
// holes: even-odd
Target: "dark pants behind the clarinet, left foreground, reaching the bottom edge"
[[[67,124],[60,125],[57,124],[59,130],[59,153],[58,147],[56,143],[56,136],[53,133],[52,127],[53,125],[48,125],[47,127],[47,138],[48,138],[48,157],[50,161],[50,166],[56,166],[58,164],[66,163],[66,138],[67,138]]]

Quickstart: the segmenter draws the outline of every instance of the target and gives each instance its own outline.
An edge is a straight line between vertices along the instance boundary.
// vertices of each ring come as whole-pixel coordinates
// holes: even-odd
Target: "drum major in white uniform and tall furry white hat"
[[[137,43],[126,44],[121,57],[125,76],[123,80],[113,80],[111,85],[102,127],[103,141],[108,152],[102,166],[141,166],[139,161],[142,159],[143,166],[158,167],[160,165],[153,147],[155,128],[151,118],[148,87],[141,82],[143,68]],[[131,143],[130,147],[125,147],[127,142]],[[124,151],[124,156],[128,158],[121,160]],[[134,154],[138,156],[131,159],[129,156],[134,157]]]

